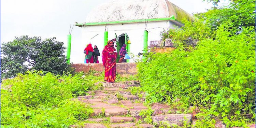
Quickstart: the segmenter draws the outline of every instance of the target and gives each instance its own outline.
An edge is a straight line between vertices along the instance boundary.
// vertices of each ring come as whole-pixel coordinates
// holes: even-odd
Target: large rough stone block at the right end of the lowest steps
[[[190,114],[168,114],[152,116],[153,124],[159,126],[160,122],[165,122],[167,125],[183,126],[184,122],[190,123],[192,115]]]

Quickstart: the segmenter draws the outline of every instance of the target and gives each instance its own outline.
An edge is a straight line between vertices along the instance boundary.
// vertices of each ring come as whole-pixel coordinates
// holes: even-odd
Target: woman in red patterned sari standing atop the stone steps
[[[114,52],[116,49],[114,48],[114,42],[112,40],[108,41],[108,45],[106,45],[102,51],[102,62],[105,67],[105,77],[104,81],[107,83],[114,83],[116,79],[116,57],[117,53]]]

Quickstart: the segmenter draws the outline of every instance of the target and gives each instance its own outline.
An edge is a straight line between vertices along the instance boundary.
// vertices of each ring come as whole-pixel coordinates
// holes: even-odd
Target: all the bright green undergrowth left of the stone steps
[[[87,84],[79,88],[81,81],[77,79],[81,75],[72,78],[39,71],[4,80],[1,86],[11,85],[11,91],[1,89],[1,125],[59,128],[87,119],[93,110],[80,101],[72,100],[72,93],[77,96],[77,92],[89,88]],[[87,83],[91,84],[90,81]]]

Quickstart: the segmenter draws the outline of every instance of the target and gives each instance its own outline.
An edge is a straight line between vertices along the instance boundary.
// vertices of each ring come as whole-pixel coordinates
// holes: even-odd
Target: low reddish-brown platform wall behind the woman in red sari
[[[104,71],[102,63],[78,63],[72,64],[72,67],[75,68],[75,72],[88,72],[90,69]],[[135,75],[137,74],[136,63],[116,63],[116,72],[121,75]]]

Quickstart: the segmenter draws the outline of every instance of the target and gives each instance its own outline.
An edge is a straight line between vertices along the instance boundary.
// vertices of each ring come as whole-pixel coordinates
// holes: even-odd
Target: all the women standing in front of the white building
[[[120,49],[120,51],[119,51],[120,59],[119,59],[118,62],[126,62],[126,59],[124,59],[125,54],[127,53],[125,47],[126,47],[126,44],[124,44],[122,46],[122,48]],[[95,62],[95,60],[97,62],[98,56],[100,56],[99,49],[97,48],[97,46],[94,46],[94,49],[93,49],[91,44],[89,44],[84,50],[86,50],[85,59],[86,59],[87,63],[88,62],[91,63],[91,61]],[[91,51],[93,51],[94,54]],[[93,59],[91,59],[90,57],[93,58]],[[104,49],[102,51],[102,62],[103,62],[103,66],[105,68],[104,81],[106,81],[107,83],[114,83],[115,82],[115,79],[116,79],[116,59],[117,59],[117,50],[114,47],[114,41],[109,40],[108,44],[104,47]]]

